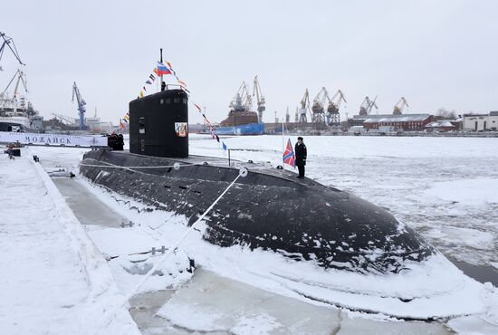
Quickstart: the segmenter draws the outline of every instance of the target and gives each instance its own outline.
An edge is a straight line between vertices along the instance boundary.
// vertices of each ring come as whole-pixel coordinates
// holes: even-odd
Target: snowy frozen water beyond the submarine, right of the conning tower
[[[295,143],[296,136],[288,138]],[[281,136],[223,141],[237,149],[231,152],[233,159],[282,165]],[[498,165],[498,139],[305,136],[304,142],[307,177],[388,208],[459,261],[498,262],[498,169],[493,168]],[[191,154],[224,157],[209,136],[193,136],[190,144]],[[475,243],[467,243],[464,234],[451,234],[455,228],[471,229]],[[479,244],[481,238],[485,244]]]

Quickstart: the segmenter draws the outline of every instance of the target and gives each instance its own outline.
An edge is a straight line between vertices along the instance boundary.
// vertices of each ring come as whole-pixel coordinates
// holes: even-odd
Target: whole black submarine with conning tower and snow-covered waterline
[[[189,155],[187,125],[181,89],[130,101],[129,150],[88,151],[79,173],[169,241],[194,230],[182,249],[236,281],[404,320],[487,311],[492,292],[388,210],[270,164]]]

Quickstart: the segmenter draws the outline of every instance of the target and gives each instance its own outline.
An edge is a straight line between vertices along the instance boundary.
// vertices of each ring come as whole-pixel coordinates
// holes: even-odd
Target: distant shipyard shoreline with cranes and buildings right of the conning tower
[[[343,91],[337,90],[334,94],[330,94],[325,87],[322,87],[311,99],[310,91],[306,89],[293,116],[287,107],[283,118],[278,118],[277,112],[274,111],[274,120],[263,122],[266,101],[258,77],[255,76],[252,94],[243,81],[229,103],[227,118],[215,125],[215,133],[217,135],[272,135],[286,132],[295,135],[477,136],[474,133],[483,132],[484,134],[479,136],[498,136],[496,111],[488,114],[456,115],[455,110],[440,109],[432,113],[408,113],[407,99],[401,97],[392,107],[392,111],[378,113],[377,98],[370,99],[366,96],[359,105],[356,115],[349,117],[346,112],[346,120],[341,120],[341,104],[348,102]],[[256,102],[255,106],[253,100]],[[206,125],[200,124],[189,125],[189,129],[192,132],[208,132]]]

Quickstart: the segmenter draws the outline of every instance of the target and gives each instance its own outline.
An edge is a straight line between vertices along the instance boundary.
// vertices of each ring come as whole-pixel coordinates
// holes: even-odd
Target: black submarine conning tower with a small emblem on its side
[[[188,157],[188,96],[166,90],[129,102],[129,152]]]

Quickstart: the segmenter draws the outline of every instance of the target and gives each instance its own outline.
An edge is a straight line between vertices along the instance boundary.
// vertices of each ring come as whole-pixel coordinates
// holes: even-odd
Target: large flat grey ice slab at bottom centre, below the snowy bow
[[[330,306],[303,304],[203,269],[157,315],[186,330],[230,334],[330,334],[340,321]]]

